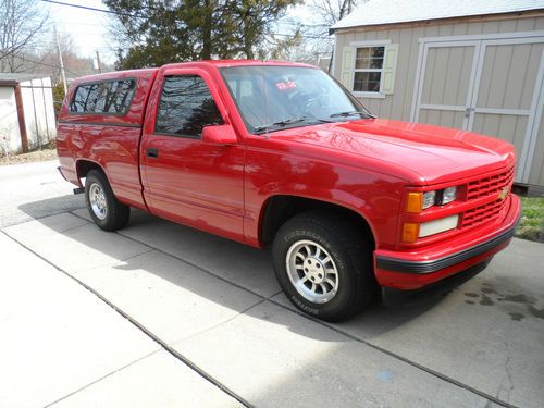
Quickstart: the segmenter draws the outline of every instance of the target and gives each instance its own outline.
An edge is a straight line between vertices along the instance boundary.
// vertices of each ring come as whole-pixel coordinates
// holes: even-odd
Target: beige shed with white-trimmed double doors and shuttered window
[[[333,26],[343,85],[382,118],[514,144],[516,182],[544,186],[544,2],[376,5]]]

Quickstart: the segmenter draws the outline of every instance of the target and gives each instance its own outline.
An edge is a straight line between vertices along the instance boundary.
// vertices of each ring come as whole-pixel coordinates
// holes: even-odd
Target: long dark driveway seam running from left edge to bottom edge
[[[39,259],[41,259],[42,261],[47,262],[48,264],[50,264],[51,267],[53,267],[54,269],[57,269],[59,272],[63,273],[64,275],[66,275],[67,277],[74,280],[75,282],[77,282],[79,285],[82,285],[83,287],[85,287],[87,290],[89,290],[91,294],[94,294],[95,296],[97,296],[100,300],[102,300],[104,304],[107,304],[109,307],[111,307],[114,311],[116,311],[119,314],[121,314],[123,318],[125,318],[126,320],[128,320],[133,325],[135,325],[137,329],[139,329],[141,332],[144,332],[148,337],[150,337],[153,342],[156,342],[157,344],[159,344],[165,351],[168,351],[170,355],[172,355],[174,358],[176,358],[177,360],[182,361],[185,366],[187,366],[188,368],[190,368],[193,371],[195,371],[197,374],[199,374],[201,378],[203,378],[205,380],[209,381],[210,383],[212,383],[213,385],[215,385],[218,388],[220,388],[222,392],[224,392],[225,394],[230,395],[231,397],[233,397],[234,399],[236,399],[238,403],[240,403],[242,405],[246,406],[246,407],[252,407],[251,404],[249,404],[247,400],[245,400],[240,395],[236,394],[234,391],[232,391],[231,388],[228,388],[226,385],[223,385],[221,382],[219,382],[218,380],[215,380],[213,376],[211,376],[210,374],[208,374],[206,371],[203,371],[202,369],[200,369],[197,364],[195,364],[193,361],[190,361],[188,358],[186,358],[185,356],[183,356],[181,353],[178,353],[177,350],[175,350],[174,348],[170,347],[166,343],[164,343],[160,337],[158,337],[157,335],[154,335],[152,332],[150,332],[146,326],[144,326],[143,324],[140,324],[136,319],[134,319],[133,317],[131,317],[128,313],[126,313],[124,310],[120,309],[119,307],[116,307],[113,302],[111,302],[110,300],[108,300],[104,296],[102,296],[100,293],[98,293],[97,290],[95,290],[92,287],[90,287],[89,285],[87,285],[85,282],[78,280],[76,276],[70,274],[69,272],[64,271],[62,268],[59,268],[58,265],[55,265],[54,263],[52,263],[51,261],[49,261],[48,259],[46,259],[45,257],[42,257],[41,255],[39,255],[38,252],[34,251],[33,249],[30,249],[29,247],[27,247],[25,244],[21,243],[18,239],[12,237],[10,234],[8,234],[5,231],[3,230],[0,230],[0,232],[2,234],[4,234],[7,237],[9,237],[10,239],[14,240],[15,243],[17,243],[18,245],[21,245],[23,248],[25,248],[26,250],[28,250],[29,252],[34,254],[36,257],[38,257]],[[121,235],[121,234],[120,234]],[[121,235],[122,236],[122,235]],[[151,246],[147,245],[148,247],[152,248]],[[154,249],[154,248],[153,248]],[[263,301],[263,300],[262,300]],[[262,301],[259,301],[257,302],[256,305],[260,305]],[[252,305],[256,306],[256,305]]]

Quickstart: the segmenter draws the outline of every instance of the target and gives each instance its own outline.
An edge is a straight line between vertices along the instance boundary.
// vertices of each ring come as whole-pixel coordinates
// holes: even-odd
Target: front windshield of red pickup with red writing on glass
[[[373,118],[323,71],[287,65],[221,69],[249,132]]]

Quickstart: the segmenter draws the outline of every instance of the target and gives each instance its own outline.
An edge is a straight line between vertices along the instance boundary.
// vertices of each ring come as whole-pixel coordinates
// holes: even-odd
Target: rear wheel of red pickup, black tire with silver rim
[[[85,201],[92,221],[100,228],[116,231],[128,224],[131,207],[115,198],[108,178],[101,171],[91,170],[87,174]]]

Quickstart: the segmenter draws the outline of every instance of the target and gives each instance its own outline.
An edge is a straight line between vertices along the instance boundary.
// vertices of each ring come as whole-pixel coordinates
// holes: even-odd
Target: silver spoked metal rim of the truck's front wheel
[[[297,292],[314,304],[326,304],[338,290],[338,271],[329,252],[312,240],[298,240],[287,251],[287,275]]]

